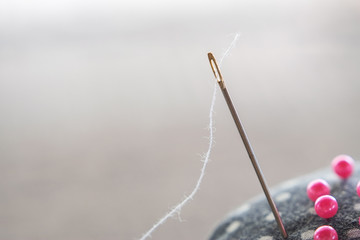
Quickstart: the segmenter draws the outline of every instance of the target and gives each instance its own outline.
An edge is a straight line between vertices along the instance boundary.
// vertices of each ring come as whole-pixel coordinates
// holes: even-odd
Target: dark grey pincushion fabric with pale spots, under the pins
[[[320,218],[306,194],[307,184],[314,179],[325,179],[331,186],[331,195],[339,209],[330,219]],[[360,180],[357,165],[355,173],[342,180],[330,168],[287,181],[271,192],[282,216],[288,239],[313,239],[316,228],[330,225],[339,239],[360,239],[360,198],[356,184]],[[264,196],[259,196],[232,212],[214,231],[210,240],[283,239]]]

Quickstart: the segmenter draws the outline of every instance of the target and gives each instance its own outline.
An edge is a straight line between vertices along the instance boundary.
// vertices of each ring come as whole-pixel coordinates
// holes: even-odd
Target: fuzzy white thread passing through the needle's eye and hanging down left
[[[226,51],[224,52],[223,56],[220,59],[219,62],[219,66],[221,66],[222,61],[224,60],[225,57],[227,57],[230,53],[230,50],[236,45],[236,42],[238,41],[240,34],[235,34],[234,40],[231,42],[230,46],[226,49]],[[162,224],[164,224],[166,222],[166,220],[168,220],[170,217],[172,217],[175,213],[180,213],[181,208],[191,199],[193,199],[193,197],[195,196],[196,192],[199,190],[200,188],[200,184],[202,182],[202,179],[204,178],[205,175],[205,169],[209,163],[210,160],[210,153],[211,150],[213,148],[213,143],[214,143],[214,127],[213,127],[213,113],[214,113],[214,106],[215,106],[215,100],[216,100],[216,93],[217,93],[217,83],[215,83],[214,86],[214,91],[213,91],[213,96],[212,96],[212,100],[211,100],[211,105],[210,105],[210,111],[209,111],[209,147],[208,150],[205,154],[204,157],[204,163],[203,166],[201,168],[201,172],[200,172],[200,176],[199,179],[195,185],[195,188],[193,189],[193,191],[190,193],[189,196],[187,196],[184,200],[182,200],[178,205],[176,205],[170,212],[168,212],[164,217],[162,217],[157,223],[154,224],[154,226],[152,226],[152,228],[149,229],[149,231],[147,231],[141,238],[140,240],[145,240],[146,238],[150,237],[151,234]]]

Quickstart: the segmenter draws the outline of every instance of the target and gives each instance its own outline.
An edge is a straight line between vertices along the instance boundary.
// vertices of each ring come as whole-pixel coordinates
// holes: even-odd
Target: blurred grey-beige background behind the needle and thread
[[[0,238],[138,239],[192,191],[222,72],[270,186],[360,157],[359,1],[0,3]],[[152,239],[261,193],[225,101],[200,191]]]

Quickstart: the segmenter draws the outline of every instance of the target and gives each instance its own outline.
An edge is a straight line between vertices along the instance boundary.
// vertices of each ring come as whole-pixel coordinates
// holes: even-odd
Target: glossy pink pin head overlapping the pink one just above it
[[[331,218],[335,216],[337,210],[338,204],[333,196],[324,195],[315,201],[315,212],[322,218]]]

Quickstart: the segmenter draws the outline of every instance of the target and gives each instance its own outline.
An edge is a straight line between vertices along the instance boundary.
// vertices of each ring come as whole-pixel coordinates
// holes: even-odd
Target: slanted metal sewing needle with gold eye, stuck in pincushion
[[[231,101],[231,97],[229,95],[229,92],[226,89],[224,80],[222,78],[220,69],[219,69],[219,67],[218,67],[218,65],[216,63],[215,57],[213,56],[212,53],[208,53],[208,57],[209,57],[209,62],[210,62],[211,68],[212,68],[212,70],[214,72],[215,78],[216,78],[217,82],[219,83],[219,86],[220,86],[221,91],[222,91],[222,93],[224,95],[225,101],[226,101],[226,103],[227,103],[227,105],[229,107],[229,110],[231,112],[231,115],[232,115],[232,117],[234,119],[235,125],[236,125],[236,127],[237,127],[237,129],[239,131],[239,134],[240,134],[241,139],[242,139],[242,141],[243,141],[243,143],[245,145],[245,148],[246,148],[246,151],[247,151],[247,153],[249,155],[251,163],[252,163],[252,165],[253,165],[253,167],[255,169],[256,175],[257,175],[257,177],[258,177],[258,179],[260,181],[261,187],[262,187],[262,189],[263,189],[263,191],[265,193],[266,199],[267,199],[267,201],[268,201],[268,203],[270,205],[270,208],[271,208],[271,210],[272,210],[272,212],[274,214],[275,220],[276,220],[276,222],[277,222],[277,224],[279,226],[279,229],[280,229],[283,237],[287,238],[288,234],[287,234],[287,232],[285,230],[285,227],[284,227],[284,224],[282,222],[281,216],[280,216],[279,211],[278,211],[278,209],[277,209],[277,207],[275,205],[274,200],[271,197],[271,194],[270,194],[269,189],[267,187],[264,175],[263,175],[263,173],[261,171],[261,168],[259,166],[259,163],[258,163],[258,161],[256,159],[255,153],[254,153],[254,151],[253,151],[253,149],[251,147],[249,138],[246,135],[245,129],[244,129],[244,127],[243,127],[243,125],[242,125],[242,123],[240,121],[240,118],[239,118],[239,116],[238,116],[238,114],[236,112],[236,109],[235,109],[235,107],[234,107],[234,105],[233,105],[233,103]]]

